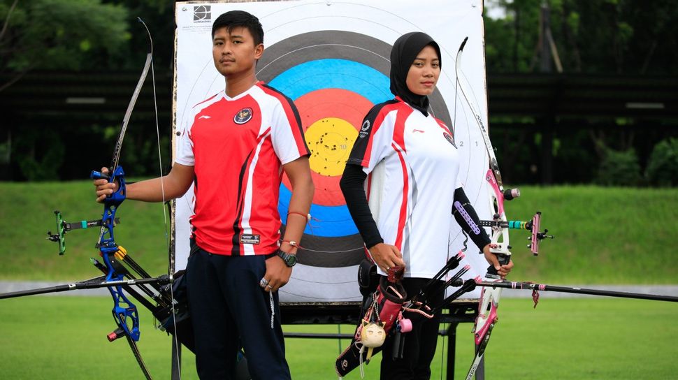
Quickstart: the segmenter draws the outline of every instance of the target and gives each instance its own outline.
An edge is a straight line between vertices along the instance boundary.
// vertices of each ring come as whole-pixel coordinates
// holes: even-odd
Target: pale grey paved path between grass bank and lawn
[[[25,289],[34,288],[48,288],[66,284],[66,282],[10,282],[0,281],[0,293],[7,293],[10,291],[22,291]],[[556,285],[556,284],[553,284]],[[625,291],[631,293],[648,293],[658,295],[674,295],[678,296],[678,285],[563,285],[579,288],[600,289],[606,291]],[[108,289],[83,289],[77,291],[64,291],[59,293],[50,293],[52,295],[109,295]],[[572,294],[572,293],[556,293],[551,291],[541,291],[540,298],[586,298],[597,297],[596,295]],[[503,298],[531,298],[532,291],[529,290],[514,290],[504,289],[501,293]]]

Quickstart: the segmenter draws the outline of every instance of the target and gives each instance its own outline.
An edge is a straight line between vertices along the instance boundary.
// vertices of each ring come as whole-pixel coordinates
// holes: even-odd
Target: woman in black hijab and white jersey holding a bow
[[[476,226],[472,228],[461,212],[453,212],[456,222],[499,275],[504,277],[513,267],[512,262],[499,265],[490,253],[490,239],[477,228],[479,219],[459,179],[461,156],[454,137],[428,112],[428,95],[440,67],[440,47],[433,38],[421,32],[398,38],[391,50],[390,75],[396,98],[368,112],[340,181],[377,272],[384,276],[396,265],[405,267],[402,284],[410,297],[447,262],[455,201]],[[429,303],[440,304],[442,293]],[[392,358],[389,336],[382,349],[381,379],[429,379],[439,323],[440,316],[415,319],[402,359]]]

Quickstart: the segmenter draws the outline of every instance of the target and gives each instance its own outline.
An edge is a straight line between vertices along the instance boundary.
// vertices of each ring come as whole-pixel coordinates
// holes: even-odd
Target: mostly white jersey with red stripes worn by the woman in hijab
[[[447,262],[459,160],[447,126],[399,98],[363,121],[348,162],[368,174],[370,211],[384,243],[401,250],[405,277],[432,278]]]

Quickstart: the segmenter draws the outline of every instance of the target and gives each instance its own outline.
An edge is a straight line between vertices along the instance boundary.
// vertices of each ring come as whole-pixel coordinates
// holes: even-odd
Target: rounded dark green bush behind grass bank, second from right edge
[[[606,148],[598,167],[596,184],[604,186],[638,186],[642,182],[640,164],[634,149],[617,151]]]

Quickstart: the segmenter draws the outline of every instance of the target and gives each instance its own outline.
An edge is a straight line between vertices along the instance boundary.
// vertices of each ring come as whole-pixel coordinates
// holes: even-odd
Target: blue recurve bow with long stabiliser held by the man
[[[99,226],[101,228],[99,233],[99,240],[97,240],[96,248],[99,249],[101,257],[103,258],[103,264],[99,261],[96,261],[92,258],[92,264],[103,272],[103,276],[94,277],[92,279],[85,280],[83,282],[77,282],[74,284],[64,284],[59,286],[53,286],[49,288],[39,288],[32,289],[27,291],[17,291],[11,293],[0,294],[0,299],[2,298],[14,298],[20,297],[23,295],[34,295],[34,294],[43,294],[43,293],[54,293],[60,291],[71,291],[83,288],[102,288],[106,287],[110,291],[110,295],[113,297],[113,319],[117,325],[117,328],[113,333],[108,334],[108,340],[113,342],[115,339],[120,337],[126,337],[129,346],[134,353],[134,357],[139,364],[139,367],[143,371],[146,379],[151,379],[150,374],[143,362],[143,359],[140,356],[136,342],[140,337],[139,330],[139,318],[138,318],[138,309],[136,305],[125,295],[124,291],[127,291],[129,295],[134,297],[142,305],[150,309],[153,315],[160,321],[160,328],[166,330],[169,333],[173,333],[174,338],[177,337],[177,326],[178,326],[178,313],[175,310],[175,300],[173,294],[173,286],[164,286],[165,284],[173,282],[173,265],[170,261],[168,268],[168,275],[162,275],[160,277],[150,277],[150,275],[141,268],[138,263],[136,263],[128,254],[127,251],[119,246],[115,242],[114,228],[116,224],[120,222],[119,219],[115,217],[118,207],[126,198],[126,182],[124,177],[124,170],[121,166],[118,165],[120,161],[120,152],[122,149],[122,142],[124,140],[125,132],[127,131],[127,126],[129,124],[129,119],[131,117],[131,112],[134,110],[134,105],[136,105],[136,100],[141,91],[141,87],[145,82],[149,69],[153,73],[152,66],[152,55],[153,55],[153,42],[146,24],[137,17],[138,22],[143,24],[143,27],[146,29],[148,34],[150,50],[146,55],[146,61],[143,66],[143,71],[140,75],[140,78],[137,82],[137,85],[134,89],[134,93],[129,101],[127,106],[127,111],[124,114],[122,121],[122,126],[120,133],[118,135],[115,149],[113,150],[113,158],[111,159],[110,166],[108,167],[109,173],[100,173],[97,171],[92,171],[90,177],[94,180],[106,179],[109,183],[117,182],[118,187],[115,192],[106,196],[103,200],[103,215],[101,219],[91,220],[91,221],[80,221],[78,223],[67,223],[62,218],[62,214],[59,211],[55,211],[55,217],[57,221],[57,231],[56,233],[48,232],[48,240],[52,242],[57,242],[59,244],[59,255],[63,255],[66,251],[66,241],[65,235],[68,231],[77,228],[92,228]],[[154,76],[154,75],[153,75]],[[154,94],[154,103],[155,101],[155,85],[153,78],[153,94]],[[157,120],[157,105],[156,105],[156,127],[158,129],[158,144],[159,144],[159,126]],[[162,170],[162,162],[160,162],[160,170]],[[162,173],[161,173],[162,177]],[[162,183],[162,181],[161,181]],[[164,189],[163,189],[163,198],[164,198]],[[165,217],[166,220],[166,217]],[[166,223],[166,222],[165,222]],[[137,278],[124,264],[127,264],[129,268],[136,272],[136,275],[141,278]],[[127,279],[126,279],[127,278]],[[132,288],[134,285],[136,288]],[[152,303],[145,298],[140,292],[145,293],[146,296],[152,298],[157,305],[152,305]],[[183,327],[182,327],[183,328]],[[192,344],[187,344],[188,342],[182,342],[192,348]]]

